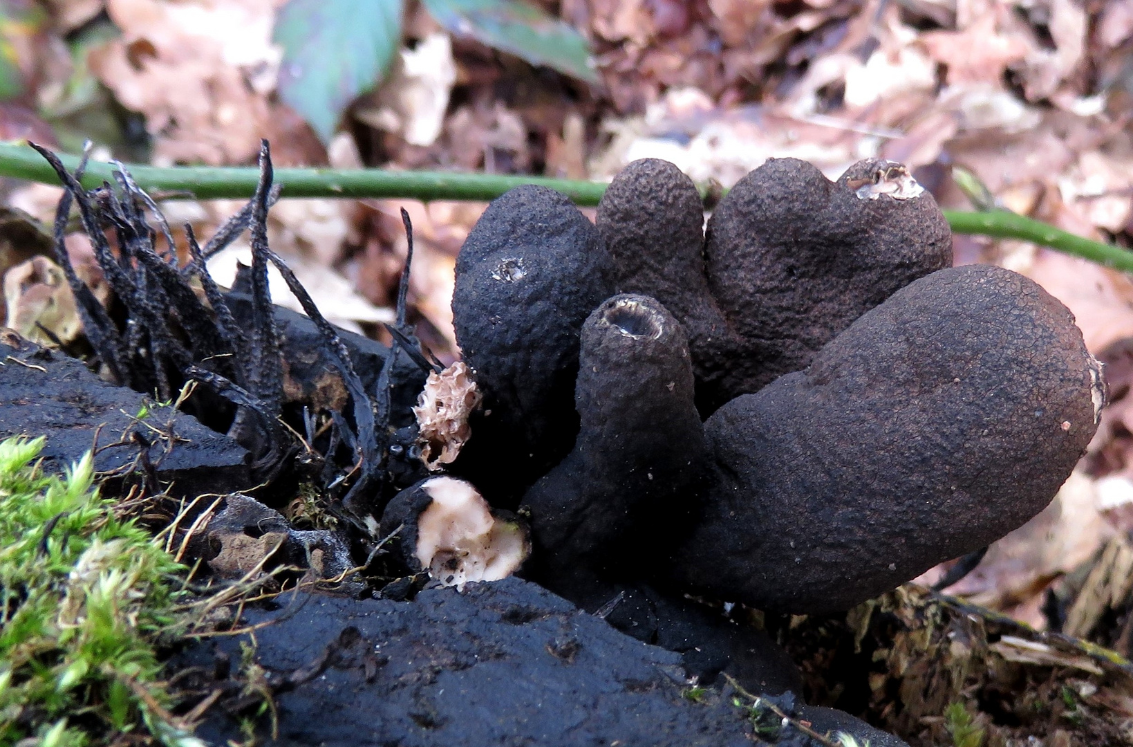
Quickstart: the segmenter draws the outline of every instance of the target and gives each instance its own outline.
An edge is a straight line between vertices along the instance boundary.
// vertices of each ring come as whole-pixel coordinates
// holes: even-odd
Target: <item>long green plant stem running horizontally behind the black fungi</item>
[[[60,158],[69,169],[78,164],[74,155]],[[111,181],[114,168],[111,163],[92,161],[83,186],[93,188],[103,181]],[[250,167],[126,164],[126,168],[138,186],[164,198],[248,198],[255,193],[258,178],[258,170]],[[59,184],[51,167],[39,153],[27,145],[15,143],[0,143],[0,176]],[[557,189],[579,205],[597,205],[606,189],[605,184],[573,179],[380,169],[276,169],[275,182],[283,186],[283,197],[402,197],[421,201],[489,201],[512,187],[536,184]],[[944,214],[956,234],[1032,241],[1133,273],[1133,252],[1075,236],[1023,215],[1006,211],[955,210],[946,210]]]

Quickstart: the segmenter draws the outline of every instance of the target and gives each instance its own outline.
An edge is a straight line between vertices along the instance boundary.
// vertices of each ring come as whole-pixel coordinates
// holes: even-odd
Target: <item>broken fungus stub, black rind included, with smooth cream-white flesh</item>
[[[428,571],[441,586],[463,589],[516,572],[530,552],[527,528],[493,511],[470,484],[429,477],[398,493],[382,516],[382,532],[415,572]]]

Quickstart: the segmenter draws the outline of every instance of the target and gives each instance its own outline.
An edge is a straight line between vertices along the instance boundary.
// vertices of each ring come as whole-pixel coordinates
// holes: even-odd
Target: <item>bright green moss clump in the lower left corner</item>
[[[42,447],[0,443],[0,744],[148,732],[203,745],[159,681],[156,646],[180,629],[167,579],[181,567],[99,496],[90,453],[45,475]]]

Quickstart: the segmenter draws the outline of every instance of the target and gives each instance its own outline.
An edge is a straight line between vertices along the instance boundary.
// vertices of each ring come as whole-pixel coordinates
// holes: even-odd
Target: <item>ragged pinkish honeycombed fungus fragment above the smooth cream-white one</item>
[[[480,405],[480,392],[468,366],[458,360],[431,373],[414,415],[420,433],[421,461],[431,470],[451,464],[471,438],[468,416]]]

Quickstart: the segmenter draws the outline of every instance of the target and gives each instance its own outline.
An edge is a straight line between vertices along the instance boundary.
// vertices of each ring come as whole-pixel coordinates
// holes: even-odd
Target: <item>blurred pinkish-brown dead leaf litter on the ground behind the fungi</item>
[[[102,9],[100,3],[90,5],[87,18],[78,12],[70,19],[59,16],[60,26],[45,25],[41,32],[51,37],[68,28],[66,24],[83,23]],[[207,23],[167,23],[161,14],[172,12],[171,7],[107,3],[110,18],[125,33],[99,49],[108,56],[105,62],[97,56],[91,60],[91,69],[112,94],[145,116],[156,158],[247,162],[257,138],[267,135],[278,143],[276,162],[283,163],[330,159],[337,164],[457,165],[603,178],[630,159],[658,155],[698,180],[716,178],[730,185],[768,155],[800,155],[833,176],[861,155],[879,153],[917,169],[942,204],[964,206],[947,178],[948,168],[960,164],[1008,209],[1083,235],[1126,238],[1130,169],[1122,164],[1130,148],[1123,126],[1133,20],[1123,3],[565,2],[562,16],[595,43],[605,92],[590,94],[565,78],[531,73],[514,60],[457,40],[452,83],[443,76],[424,82],[417,76],[418,85],[434,87],[434,101],[448,97],[440,117],[435,103],[408,111],[386,105],[381,114],[382,105],[375,102],[370,110],[381,116],[360,117],[366,125],[356,126],[352,138],[340,137],[326,151],[299,118],[269,95],[273,52],[267,41],[271,19],[264,9],[241,6],[261,42],[246,46],[246,58],[233,60],[229,52],[218,51],[224,45],[218,44]],[[198,12],[198,19],[208,17],[204,3],[188,8]],[[421,12],[410,14],[406,31],[415,40],[443,34]],[[37,60],[36,68],[67,67],[58,48],[43,50],[33,56],[48,58]],[[131,54],[135,61],[152,63],[133,66]],[[191,63],[176,54],[189,56]],[[162,60],[170,63],[159,65]],[[107,67],[100,73],[101,65]],[[126,75],[126,66],[134,73]],[[202,80],[238,80],[229,68],[241,70],[242,83],[211,83],[208,95],[191,96],[186,104],[201,112],[199,121],[182,114],[170,128],[170,104],[162,96],[199,91]],[[257,78],[252,75],[255,70],[269,73]],[[128,83],[138,91],[134,97],[117,87]],[[56,111],[67,110],[58,90],[40,95]],[[26,121],[17,105],[5,108],[8,127]],[[250,114],[233,116],[241,111]],[[262,111],[278,116],[257,113]],[[440,119],[434,143],[404,135],[410,131],[404,122],[415,111]],[[263,129],[238,136],[231,125],[249,120],[264,122]],[[276,137],[271,128],[290,129]],[[415,131],[423,130],[429,128]],[[233,145],[224,143],[229,137]],[[12,201],[50,219],[58,193],[35,200],[35,193],[49,192],[25,188]],[[48,212],[44,205],[50,206]],[[352,278],[374,308],[389,307],[401,272],[398,255],[403,252],[400,205],[313,203],[295,209],[300,217],[287,219],[280,212],[288,205],[284,201],[274,209],[269,226],[275,251],[313,258],[314,266],[330,265]],[[426,324],[418,326],[421,337],[448,362],[452,333],[445,295],[451,294],[451,266],[478,213],[469,205],[407,207],[417,232],[411,317],[424,319]],[[184,210],[184,218],[171,215],[170,222],[190,220],[202,236],[235,212],[231,206],[179,203],[168,203],[164,210]],[[184,237],[178,232],[174,238],[184,251]],[[69,244],[75,245],[73,252],[79,257],[75,264],[83,272],[83,252],[90,254],[90,248],[79,238]],[[960,237],[956,248],[960,261],[994,261],[1034,277],[1075,312],[1092,351],[1115,363],[1119,359],[1119,350],[1109,347],[1128,336],[1126,278],[1008,241]],[[1099,297],[1106,303],[1097,303]],[[373,330],[391,316],[369,314],[359,319],[361,329]],[[1130,521],[1131,496],[1123,476],[1128,431],[1121,421],[1121,381],[1111,379],[1111,385],[1118,407],[1107,414],[1102,433],[1109,435],[1094,444],[1084,472],[1075,475],[1042,523],[994,547],[982,567],[953,591],[981,593],[980,601],[1040,627],[1065,619],[1068,631],[1090,630],[1099,642],[1121,650],[1127,599],[1119,584],[1109,588],[1101,580],[1108,577],[1102,572],[1107,563],[1121,567],[1117,560]],[[1100,545],[1107,541],[1102,552]],[[1100,566],[1080,567],[1090,558],[1099,559]],[[1092,610],[1083,609],[1090,605],[1075,591],[1082,586],[1094,591],[1087,599],[1101,600]],[[1046,594],[1049,588],[1053,596]],[[1092,628],[1083,628],[1091,620]]]

